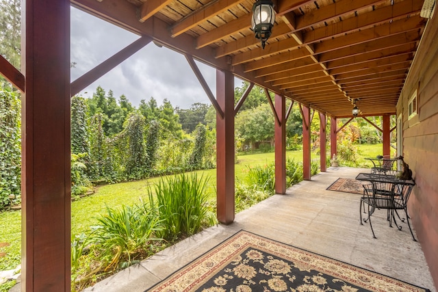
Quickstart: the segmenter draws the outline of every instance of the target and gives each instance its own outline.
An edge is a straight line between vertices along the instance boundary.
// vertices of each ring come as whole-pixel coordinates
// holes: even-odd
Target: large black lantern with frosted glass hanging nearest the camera
[[[253,5],[253,19],[251,22],[255,37],[261,40],[261,47],[265,49],[265,42],[270,37],[275,22],[272,1],[259,0]]]

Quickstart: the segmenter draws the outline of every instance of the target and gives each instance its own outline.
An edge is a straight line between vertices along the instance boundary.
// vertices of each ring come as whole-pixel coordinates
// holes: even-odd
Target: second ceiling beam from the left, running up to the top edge
[[[146,1],[146,3],[148,1]],[[203,7],[199,10],[195,10],[191,14],[188,14],[183,19],[181,19],[181,21],[175,23],[175,25],[173,25],[170,29],[170,35],[175,38],[176,36],[185,33],[185,31],[196,27],[196,25],[207,21],[209,18],[213,18],[214,16],[242,3],[243,1],[244,0],[216,0],[207,5],[203,5]],[[249,26],[250,22],[248,23],[246,28],[248,28]]]

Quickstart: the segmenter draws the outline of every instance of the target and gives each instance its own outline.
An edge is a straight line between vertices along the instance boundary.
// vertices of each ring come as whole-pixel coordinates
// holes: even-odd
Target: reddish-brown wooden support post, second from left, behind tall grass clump
[[[223,117],[216,114],[216,172],[218,221],[231,224],[234,202],[234,77],[216,70],[216,99]]]

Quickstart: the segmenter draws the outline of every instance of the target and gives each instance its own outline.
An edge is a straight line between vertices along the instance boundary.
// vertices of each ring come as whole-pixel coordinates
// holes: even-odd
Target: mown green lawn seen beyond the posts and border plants
[[[361,145],[359,154],[361,157],[376,157],[382,153],[382,144]],[[302,161],[301,151],[288,151],[287,158]],[[311,159],[319,159],[312,153]],[[274,153],[261,153],[253,155],[238,155],[235,165],[237,179],[243,180],[248,165],[263,165],[274,162]],[[368,163],[368,165],[366,164]],[[370,161],[359,159],[359,166],[370,167]],[[209,177],[208,191],[211,199],[216,196],[216,170],[202,170],[198,174]],[[147,200],[147,188],[153,186],[159,178],[149,178],[129,183],[117,183],[96,187],[92,196],[82,198],[71,204],[71,233],[72,236],[88,232],[94,224],[94,217],[105,213],[105,207],[117,207],[132,205],[142,200]],[[21,249],[21,212],[8,211],[0,213],[0,242],[11,243],[8,247],[1,248],[0,252],[6,252],[7,256],[0,258],[0,270],[15,268],[20,263]]]

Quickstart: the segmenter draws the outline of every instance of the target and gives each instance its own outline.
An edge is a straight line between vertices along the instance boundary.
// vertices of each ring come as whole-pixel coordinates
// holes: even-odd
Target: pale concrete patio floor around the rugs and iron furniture
[[[84,291],[145,291],[241,229],[437,291],[407,224],[389,228],[386,211],[376,211],[374,239],[369,224],[360,224],[360,195],[326,190],[337,178],[359,172],[369,170],[329,168],[290,187],[287,195],[238,213],[233,224],[203,230]]]

